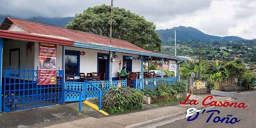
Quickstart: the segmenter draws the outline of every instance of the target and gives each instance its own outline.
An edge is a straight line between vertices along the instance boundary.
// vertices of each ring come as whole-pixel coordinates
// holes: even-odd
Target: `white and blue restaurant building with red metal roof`
[[[109,45],[106,36],[9,17],[0,29],[0,111],[4,112],[78,101],[79,95],[82,100],[101,97],[119,84],[140,90],[153,88],[162,80],[174,83],[179,81],[179,64],[187,60],[150,52],[125,40],[112,38]],[[56,45],[56,59],[40,58],[40,43]],[[176,77],[156,78],[143,73],[143,61],[149,60],[159,60],[162,65],[169,62],[169,67],[176,67]],[[175,66],[171,61],[176,62]],[[38,84],[40,66],[55,68],[55,84]],[[123,66],[132,73],[120,80],[118,72]]]

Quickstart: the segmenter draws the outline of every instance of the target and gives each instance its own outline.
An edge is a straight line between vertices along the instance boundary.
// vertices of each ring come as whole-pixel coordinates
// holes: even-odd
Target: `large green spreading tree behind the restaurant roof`
[[[66,27],[102,36],[110,34],[110,11],[108,5],[89,7],[76,14]],[[161,39],[155,31],[153,22],[124,8],[113,7],[112,37],[123,39],[143,49],[160,52]]]

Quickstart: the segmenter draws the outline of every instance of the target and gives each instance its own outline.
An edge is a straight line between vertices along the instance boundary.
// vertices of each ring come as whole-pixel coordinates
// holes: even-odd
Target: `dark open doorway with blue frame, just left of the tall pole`
[[[100,75],[100,80],[108,81],[109,55],[106,53],[98,53],[97,59],[98,59],[97,73],[98,73],[98,75]]]

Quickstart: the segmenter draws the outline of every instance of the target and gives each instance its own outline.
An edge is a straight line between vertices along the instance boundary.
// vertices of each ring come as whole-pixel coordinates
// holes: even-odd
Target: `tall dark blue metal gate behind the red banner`
[[[4,112],[37,108],[62,102],[63,70],[57,70],[57,84],[37,85],[38,68],[34,70],[3,70],[4,88],[2,104]]]

